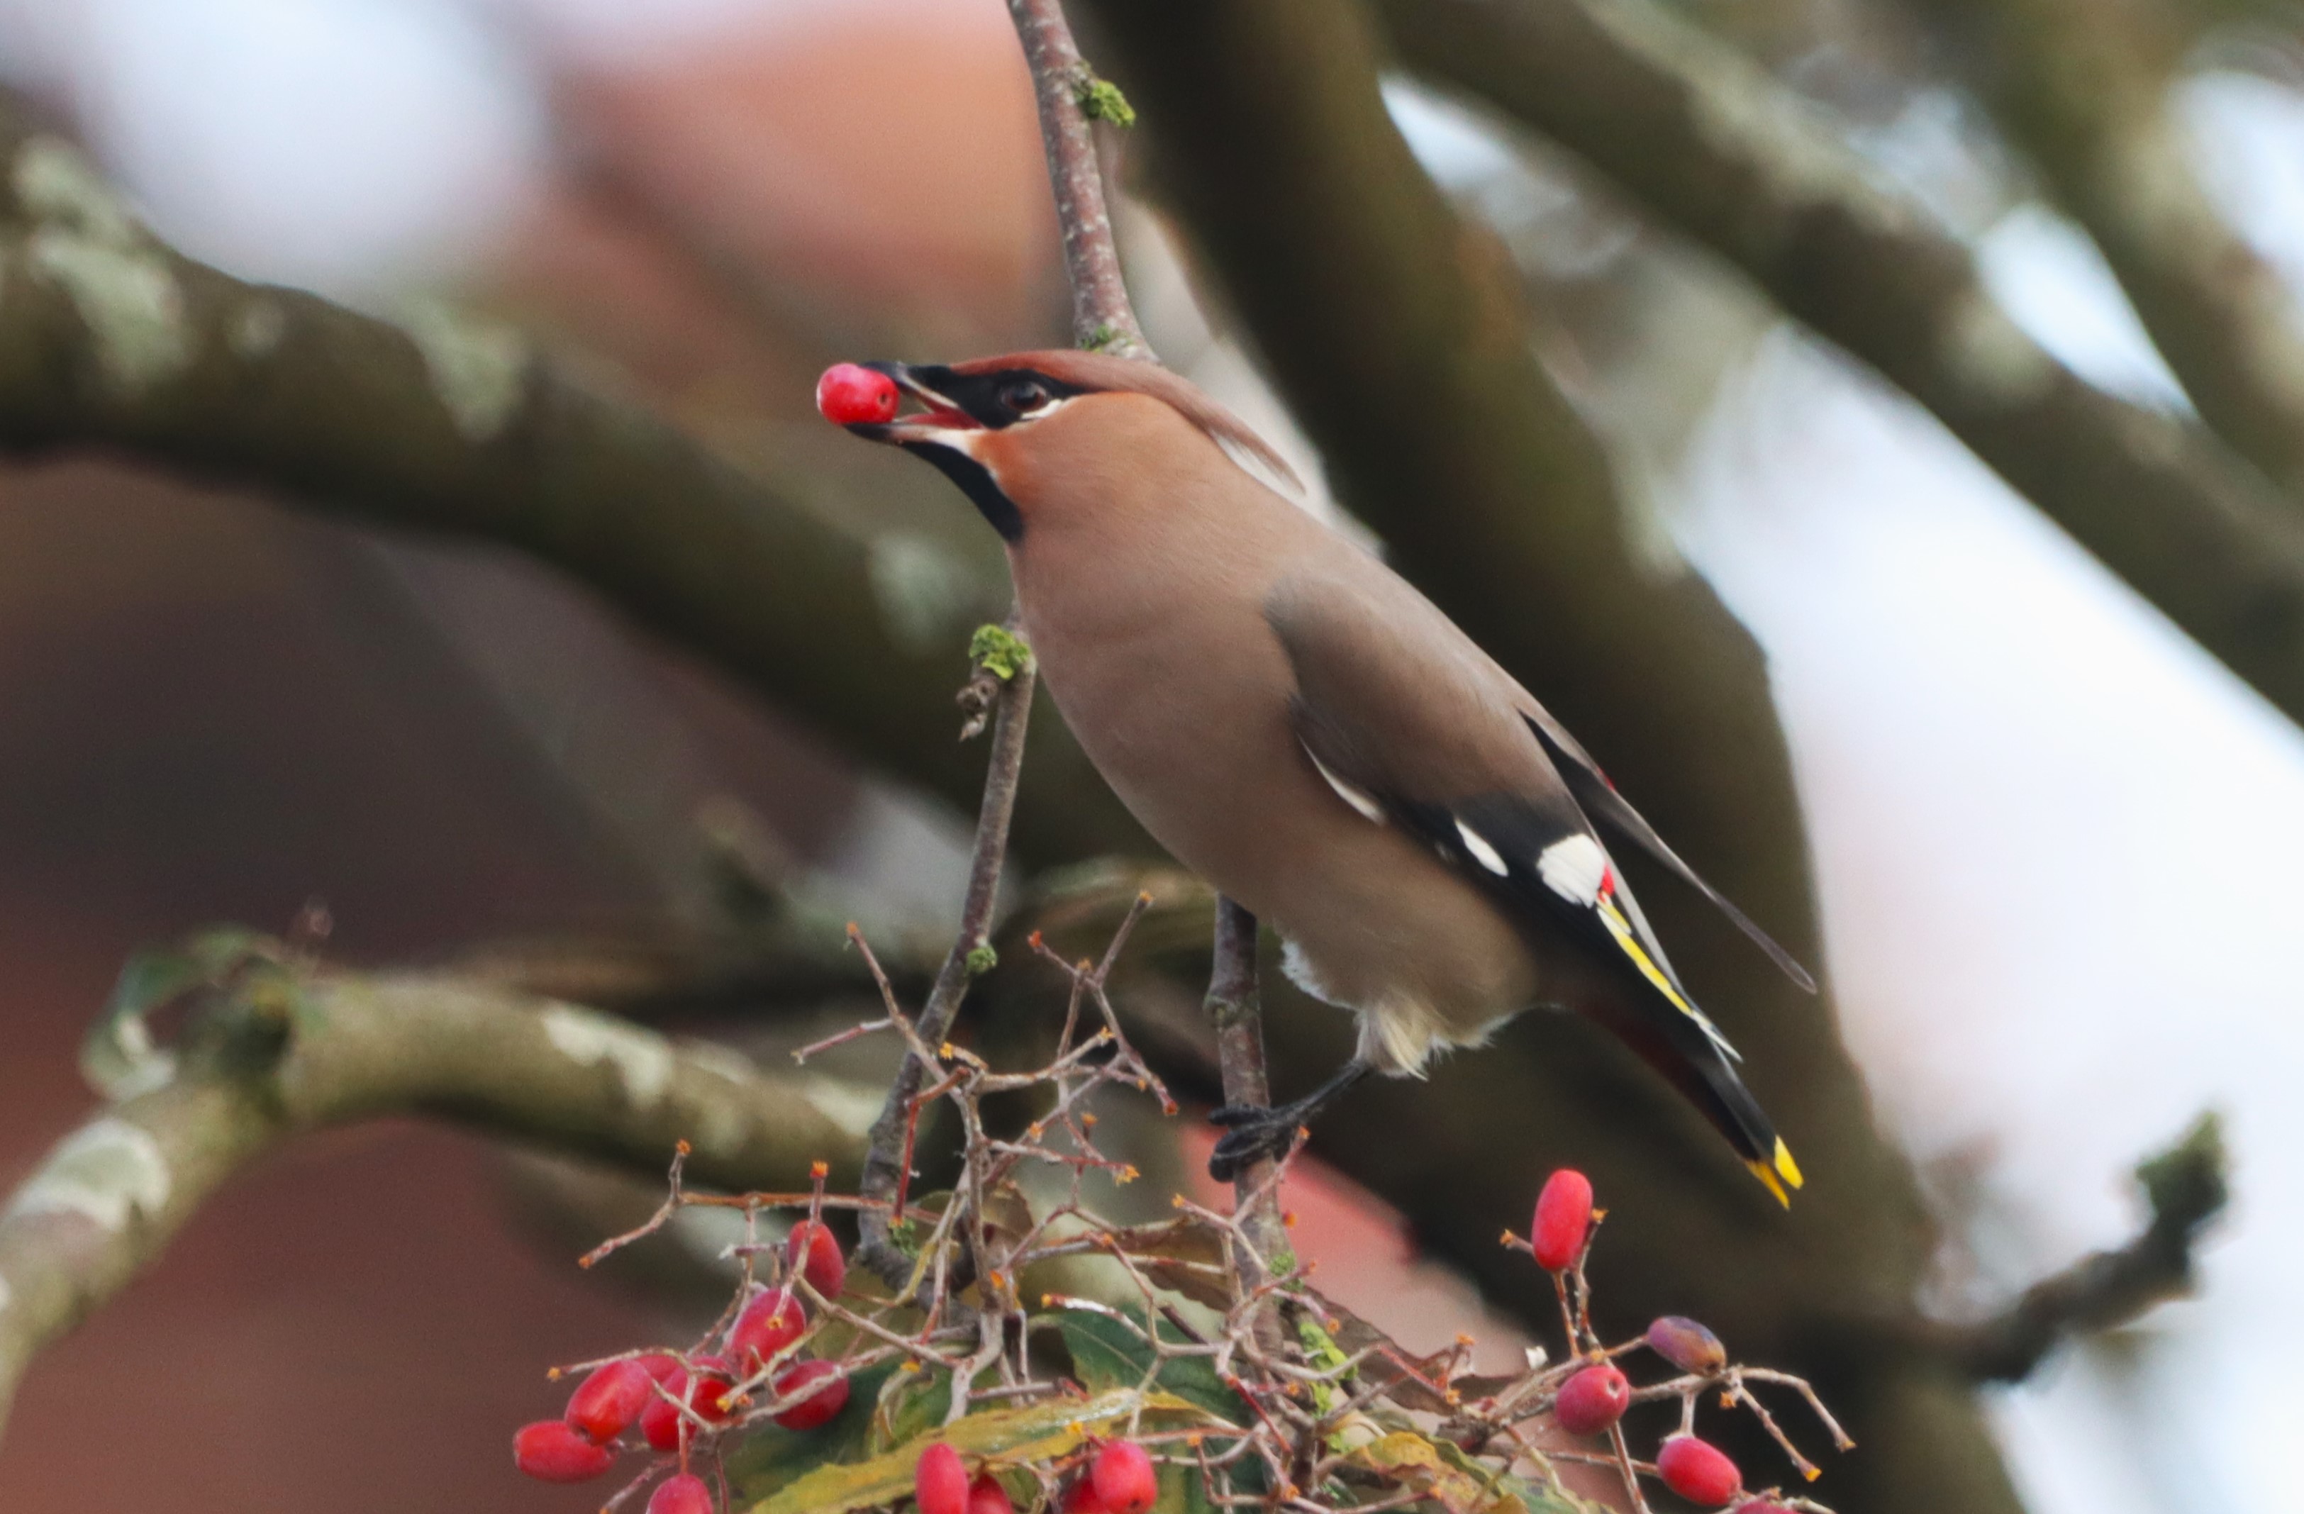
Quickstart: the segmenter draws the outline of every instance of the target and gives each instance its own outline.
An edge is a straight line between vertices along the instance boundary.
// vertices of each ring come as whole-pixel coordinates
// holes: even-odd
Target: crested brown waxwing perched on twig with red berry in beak
[[[1422,1076],[1523,1009],[1622,1037],[1779,1203],[1802,1187],[1742,1060],[1682,984],[1610,846],[1703,894],[1537,698],[1182,376],[1087,350],[839,364],[827,417],[935,465],[1007,544],[1021,631],[1143,827],[1267,922],[1352,1058],[1304,1099],[1228,1106],[1219,1180],[1369,1074]]]

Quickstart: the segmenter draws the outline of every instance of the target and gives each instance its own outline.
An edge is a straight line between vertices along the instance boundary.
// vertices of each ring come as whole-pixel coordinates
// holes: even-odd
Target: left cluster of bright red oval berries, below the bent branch
[[[804,1279],[825,1300],[841,1295],[848,1258],[820,1219],[793,1228],[783,1277]],[[597,1367],[569,1394],[558,1420],[539,1420],[511,1438],[511,1461],[541,1482],[590,1482],[615,1466],[617,1452],[627,1449],[624,1433],[638,1431],[647,1449],[680,1459],[677,1473],[647,1500],[647,1514],[712,1514],[712,1489],[687,1470],[689,1452],[740,1420],[763,1383],[770,1401],[781,1403],[770,1417],[790,1431],[818,1429],[848,1406],[848,1378],[839,1362],[795,1360],[806,1334],[809,1311],[799,1288],[790,1281],[763,1288],[737,1311],[717,1350],[634,1355]]]

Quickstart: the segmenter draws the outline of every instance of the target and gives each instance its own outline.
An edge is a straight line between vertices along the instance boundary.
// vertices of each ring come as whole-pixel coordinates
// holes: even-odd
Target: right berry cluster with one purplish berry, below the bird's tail
[[[1604,1348],[1592,1334],[1592,1295],[1583,1277],[1583,1265],[1601,1219],[1606,1219],[1606,1210],[1592,1208],[1592,1180],[1574,1168],[1553,1173],[1544,1182],[1544,1191],[1537,1194],[1537,1212],[1525,1249],[1537,1258],[1539,1267],[1553,1274],[1569,1332],[1569,1350],[1583,1362],[1553,1390],[1553,1422],[1571,1436],[1608,1436],[1627,1479],[1634,1473],[1652,1475],[1670,1491],[1707,1509],[1735,1505],[1735,1514],[1786,1514],[1786,1505],[1744,1493],[1744,1473],[1728,1452],[1700,1440],[1689,1429],[1693,1424],[1696,1385],[1723,1385],[1742,1392],[1740,1369],[1728,1364],[1728,1350],[1716,1334],[1677,1314],[1654,1320],[1636,1341],[1615,1348]],[[1509,1233],[1505,1240],[1507,1244],[1521,1244]],[[1647,1392],[1652,1399],[1680,1396],[1684,1406],[1682,1431],[1668,1436],[1657,1447],[1652,1466],[1631,1461],[1624,1438],[1617,1431],[1624,1410],[1640,1394],[1634,1390],[1631,1378],[1615,1364],[1615,1357],[1643,1348],[1684,1373]],[[1776,1373],[1756,1376],[1776,1378]],[[1728,1401],[1733,1401],[1733,1392]],[[1788,1443],[1786,1449],[1790,1449]],[[1813,1475],[1813,1468],[1804,1459],[1799,1466]]]

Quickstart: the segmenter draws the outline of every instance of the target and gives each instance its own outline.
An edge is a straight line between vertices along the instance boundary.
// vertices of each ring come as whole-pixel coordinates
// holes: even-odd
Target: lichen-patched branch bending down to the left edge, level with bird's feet
[[[44,1346],[311,1129],[426,1113],[638,1171],[689,1141],[689,1173],[737,1191],[806,1187],[818,1159],[852,1173],[859,1155],[797,1083],[723,1046],[426,972],[306,975],[256,952],[203,993],[177,1049],[143,1032],[92,1046],[111,1046],[92,1067],[122,1097],[0,1210],[0,1422]]]

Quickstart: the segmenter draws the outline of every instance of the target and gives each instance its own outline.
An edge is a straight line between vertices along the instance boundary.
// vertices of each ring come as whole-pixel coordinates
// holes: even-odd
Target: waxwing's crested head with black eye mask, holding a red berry
[[[1101,353],[843,362],[818,380],[816,408],[935,463],[1009,544],[1034,516],[1108,493],[1099,482],[1189,484],[1212,449],[1260,482],[1299,486],[1260,436],[1191,383]]]

